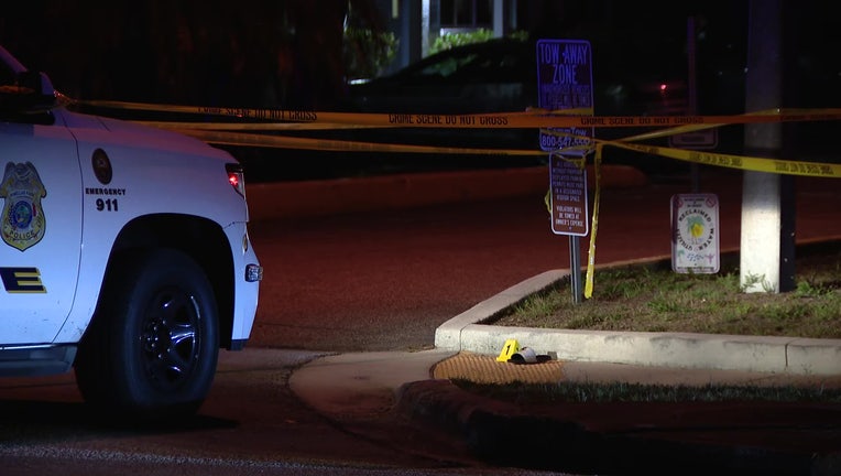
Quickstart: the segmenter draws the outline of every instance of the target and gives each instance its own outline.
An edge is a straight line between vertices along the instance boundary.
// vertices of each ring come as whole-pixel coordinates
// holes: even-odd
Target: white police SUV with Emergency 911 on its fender
[[[0,375],[75,368],[109,414],[192,414],[256,312],[242,167],[58,97],[0,47]]]

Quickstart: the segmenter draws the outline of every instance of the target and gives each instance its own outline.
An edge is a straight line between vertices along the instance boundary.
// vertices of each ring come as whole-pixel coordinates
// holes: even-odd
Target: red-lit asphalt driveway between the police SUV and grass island
[[[797,186],[798,239],[841,236],[838,184]],[[689,181],[602,191],[596,263],[669,256],[669,201],[690,192]],[[736,249],[741,173],[705,174],[700,192],[719,195],[720,247]],[[265,268],[249,344],[258,347],[429,348],[441,323],[524,279],[568,268],[570,255],[542,195],[278,219],[253,223],[250,232]],[[589,239],[580,239],[582,263]]]

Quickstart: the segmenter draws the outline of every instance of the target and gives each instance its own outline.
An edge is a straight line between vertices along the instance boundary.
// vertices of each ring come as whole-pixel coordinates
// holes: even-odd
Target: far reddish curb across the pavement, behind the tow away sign
[[[593,176],[592,165],[588,165],[590,187],[594,186]],[[645,174],[632,166],[601,167],[602,187],[634,187],[646,183]],[[548,186],[548,170],[538,166],[330,181],[247,183],[245,196],[251,219],[259,221],[523,195],[543,197]]]

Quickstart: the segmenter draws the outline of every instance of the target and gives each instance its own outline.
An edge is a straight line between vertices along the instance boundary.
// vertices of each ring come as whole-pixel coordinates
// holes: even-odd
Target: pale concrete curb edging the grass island
[[[651,264],[663,259],[658,257],[635,262]],[[564,331],[482,324],[529,294],[540,292],[568,277],[569,270],[547,271],[480,302],[436,329],[436,348],[496,355],[506,339],[516,339],[521,345],[526,344],[540,354],[556,353],[560,360],[790,375],[841,375],[841,339]]]

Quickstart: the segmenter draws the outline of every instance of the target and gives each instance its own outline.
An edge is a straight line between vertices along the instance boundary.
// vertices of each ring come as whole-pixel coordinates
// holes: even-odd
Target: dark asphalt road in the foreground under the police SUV
[[[2,379],[0,475],[523,474],[484,468],[463,444],[389,413],[335,421],[314,411],[287,383],[298,366],[321,356],[223,351],[195,418],[148,426],[92,418],[73,374]]]

